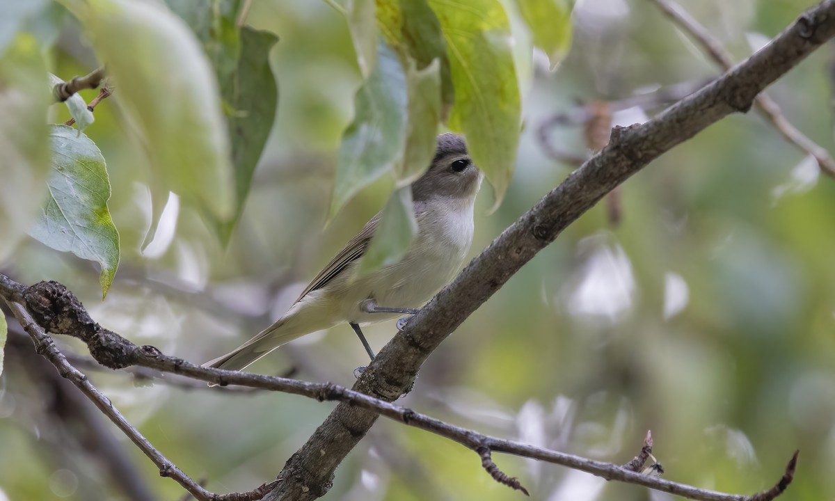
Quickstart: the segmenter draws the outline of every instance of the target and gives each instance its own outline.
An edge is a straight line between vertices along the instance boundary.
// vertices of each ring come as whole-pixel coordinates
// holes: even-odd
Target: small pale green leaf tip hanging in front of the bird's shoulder
[[[357,276],[367,275],[400,261],[406,256],[416,235],[412,188],[405,186],[392,193],[382,210],[377,230],[357,266]]]

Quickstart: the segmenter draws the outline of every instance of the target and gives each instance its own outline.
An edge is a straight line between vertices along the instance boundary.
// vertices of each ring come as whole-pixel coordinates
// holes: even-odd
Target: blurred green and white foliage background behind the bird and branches
[[[681,2],[740,60],[811,4]],[[23,240],[5,271],[24,283],[60,281],[102,325],[197,363],[286,310],[382,208],[392,180],[362,190],[324,225],[339,140],[362,82],[346,23],[326,3],[308,0],[254,2],[246,21],[280,38],[270,55],[279,99],[228,251],[175,198],[140,251],[150,221],[149,170],[116,107],[104,101],[86,134],[107,159],[109,208],[121,235],[121,266],[106,300],[98,268],[36,240]],[[493,214],[490,190],[483,190],[473,256],[572,169],[545,154],[537,135],[544,120],[578,103],[719,73],[652,3],[579,0],[572,23],[572,48],[554,73],[544,56],[534,57],[514,178]],[[78,25],[65,17],[61,27],[50,71],[64,79],[89,73],[97,63]],[[831,59],[827,45],[769,93],[793,124],[835,150]],[[88,101],[96,94],[82,93]],[[51,112],[56,123],[68,119],[63,106]],[[614,120],[632,124],[651,113],[635,107]],[[579,126],[554,129],[550,140],[564,151],[586,151]],[[818,179],[817,166],[755,114],[731,116],[627,182],[620,224],[611,224],[600,204],[524,266],[433,353],[402,404],[483,433],[615,463],[638,453],[651,429],[665,478],[732,493],[771,486],[799,448],[786,498],[832,498],[833,213],[832,179]],[[367,334],[379,348],[393,331],[385,323]],[[75,344],[67,350],[86,353]],[[51,394],[23,370],[21,351],[8,350],[0,378],[0,499],[124,498],[89,444],[58,424]],[[350,386],[354,367],[365,362],[356,337],[338,326],[292,342],[252,370],[295,367],[296,377]],[[215,492],[274,478],[332,407],[279,393],[189,390],[86,372],[168,458],[208,479]],[[183,495],[103,426],[154,496]],[[494,459],[534,499],[672,498],[550,464]],[[381,419],[337,470],[326,498],[519,495],[493,482],[467,449]]]

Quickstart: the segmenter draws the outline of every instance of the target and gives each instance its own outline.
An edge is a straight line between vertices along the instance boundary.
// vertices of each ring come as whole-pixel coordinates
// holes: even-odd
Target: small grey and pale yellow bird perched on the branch
[[[345,245],[301,293],[290,310],[235,351],[204,367],[240,370],[296,337],[349,323],[374,357],[360,326],[416,313],[455,276],[473,240],[473,205],[483,174],[461,136],[441,134],[429,170],[412,184],[417,236],[391,266],[357,276],[359,259],[380,214]]]

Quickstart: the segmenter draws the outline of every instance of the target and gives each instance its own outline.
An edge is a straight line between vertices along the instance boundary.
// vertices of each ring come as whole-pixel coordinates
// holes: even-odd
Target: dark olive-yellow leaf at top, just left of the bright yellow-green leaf
[[[377,24],[404,67],[408,58],[417,61],[417,69],[426,68],[436,59],[440,62],[445,118],[455,101],[455,89],[441,24],[432,8],[426,0],[378,0]]]

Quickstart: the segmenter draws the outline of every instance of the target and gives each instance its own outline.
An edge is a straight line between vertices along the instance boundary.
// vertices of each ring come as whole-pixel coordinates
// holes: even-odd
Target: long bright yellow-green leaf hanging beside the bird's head
[[[501,203],[513,176],[521,103],[510,25],[498,0],[430,0],[453,69],[449,128],[467,136],[473,161]]]

